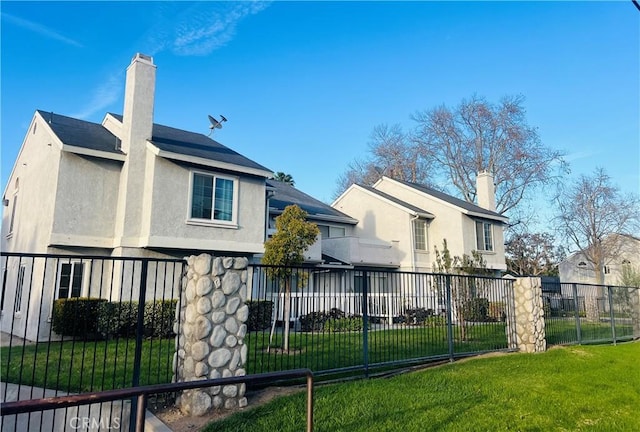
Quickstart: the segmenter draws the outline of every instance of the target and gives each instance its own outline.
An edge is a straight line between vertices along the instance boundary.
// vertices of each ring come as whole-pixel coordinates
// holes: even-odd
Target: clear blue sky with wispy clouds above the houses
[[[36,109],[121,113],[136,52],[155,122],[207,134],[330,202],[374,126],[526,97],[571,176],[640,190],[640,12],[610,2],[1,3],[2,188]]]

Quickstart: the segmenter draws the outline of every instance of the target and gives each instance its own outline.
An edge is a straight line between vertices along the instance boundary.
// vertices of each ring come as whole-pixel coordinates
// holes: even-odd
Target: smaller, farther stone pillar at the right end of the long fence
[[[517,278],[513,284],[513,318],[508,317],[509,347],[522,352],[544,352],[547,349],[544,328],[542,283],[540,278]],[[509,319],[511,318],[511,319]]]

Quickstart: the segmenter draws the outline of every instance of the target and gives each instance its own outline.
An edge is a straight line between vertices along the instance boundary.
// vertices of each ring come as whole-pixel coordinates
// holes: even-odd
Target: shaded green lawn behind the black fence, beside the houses
[[[454,328],[454,332],[456,329]],[[506,348],[503,323],[470,325],[466,341],[455,341],[456,353]],[[276,335],[272,347],[279,347]],[[247,373],[296,368],[326,371],[364,364],[361,332],[292,332],[289,354],[267,353],[269,332],[247,334]],[[140,384],[168,383],[172,376],[174,339],[145,340]],[[445,356],[447,329],[403,327],[369,332],[369,364]],[[65,341],[0,349],[0,378],[65,392],[88,392],[130,387],[135,340]]]

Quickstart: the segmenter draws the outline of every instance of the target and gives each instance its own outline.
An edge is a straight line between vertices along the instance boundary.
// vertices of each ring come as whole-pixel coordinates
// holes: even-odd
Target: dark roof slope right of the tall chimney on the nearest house
[[[122,121],[122,116],[111,114]],[[271,171],[206,135],[154,123],[151,142],[162,151]]]

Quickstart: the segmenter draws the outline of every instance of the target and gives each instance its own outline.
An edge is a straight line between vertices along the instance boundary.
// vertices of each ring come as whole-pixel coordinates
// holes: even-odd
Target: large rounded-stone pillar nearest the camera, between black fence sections
[[[176,311],[174,380],[245,375],[248,260],[202,254],[188,257],[187,263],[180,309]],[[212,409],[244,407],[245,388],[245,384],[235,384],[188,390],[176,404],[195,416]]]

